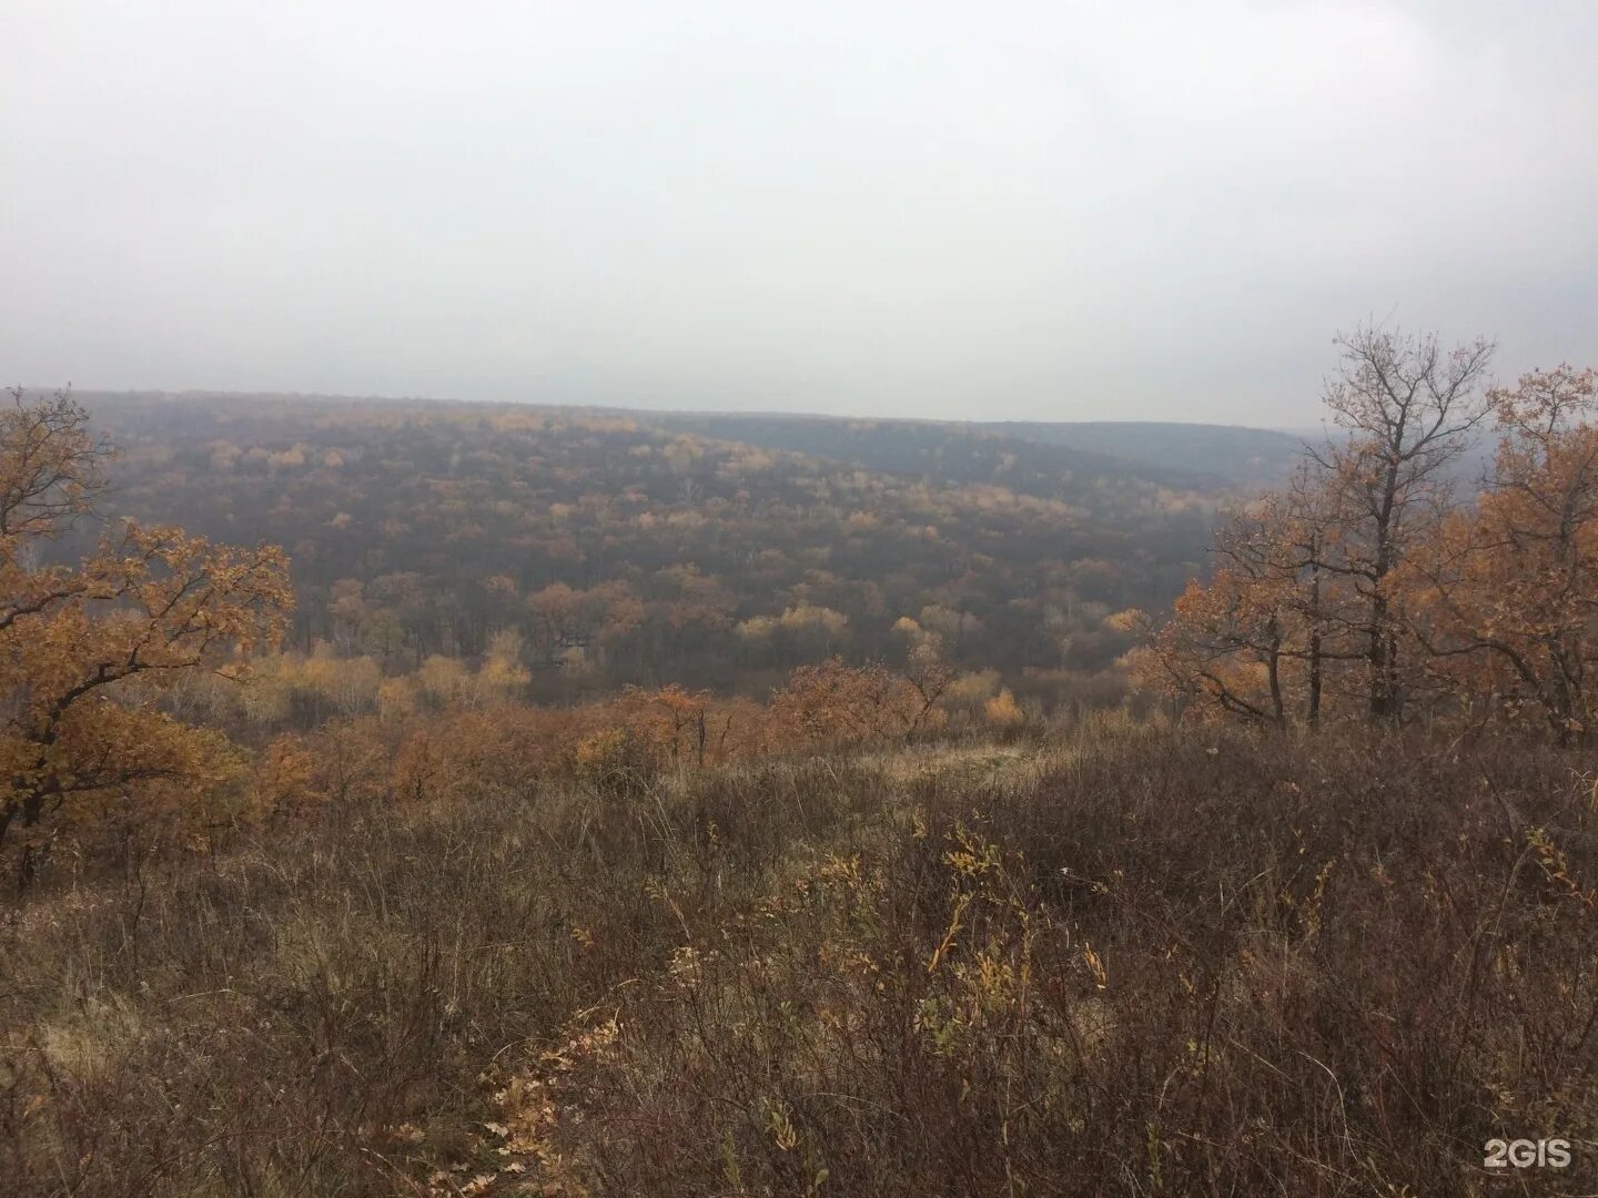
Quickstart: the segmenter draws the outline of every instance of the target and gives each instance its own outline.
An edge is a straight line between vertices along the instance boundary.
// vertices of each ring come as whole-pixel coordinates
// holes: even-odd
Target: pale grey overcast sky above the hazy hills
[[[0,0],[0,374],[1317,419],[1598,361],[1598,5]]]

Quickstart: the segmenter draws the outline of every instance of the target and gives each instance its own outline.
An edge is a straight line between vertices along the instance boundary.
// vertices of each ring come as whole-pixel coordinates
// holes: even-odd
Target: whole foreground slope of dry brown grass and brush
[[[336,810],[13,915],[0,1187],[1590,1192],[1579,767],[1098,727]]]

